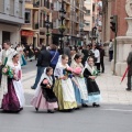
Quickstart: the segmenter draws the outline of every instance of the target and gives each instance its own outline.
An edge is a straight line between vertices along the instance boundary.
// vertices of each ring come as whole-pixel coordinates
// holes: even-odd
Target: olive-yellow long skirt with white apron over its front
[[[59,110],[69,110],[77,108],[74,87],[70,79],[56,79],[54,92],[58,100]]]

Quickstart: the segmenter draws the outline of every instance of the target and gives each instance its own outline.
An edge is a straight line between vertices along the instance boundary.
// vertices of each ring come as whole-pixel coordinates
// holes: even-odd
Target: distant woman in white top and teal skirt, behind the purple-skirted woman
[[[19,55],[20,55],[21,66],[26,65],[26,61],[25,61],[24,55],[23,55],[23,47],[22,47],[20,44],[18,44],[18,46],[16,46],[16,52],[18,52]]]

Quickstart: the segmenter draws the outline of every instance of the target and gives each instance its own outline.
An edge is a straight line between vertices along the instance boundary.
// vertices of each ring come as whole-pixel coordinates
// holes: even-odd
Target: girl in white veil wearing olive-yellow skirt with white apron
[[[68,56],[61,55],[56,65],[54,76],[56,77],[54,92],[58,99],[59,110],[73,110],[77,108],[72,77],[66,72],[68,66]],[[67,74],[65,74],[67,73]]]

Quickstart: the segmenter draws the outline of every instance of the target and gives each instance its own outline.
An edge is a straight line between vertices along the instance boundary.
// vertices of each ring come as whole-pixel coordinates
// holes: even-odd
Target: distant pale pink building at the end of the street
[[[86,0],[85,1],[85,25],[84,30],[88,37],[87,43],[96,41],[100,43],[102,32],[102,1]]]

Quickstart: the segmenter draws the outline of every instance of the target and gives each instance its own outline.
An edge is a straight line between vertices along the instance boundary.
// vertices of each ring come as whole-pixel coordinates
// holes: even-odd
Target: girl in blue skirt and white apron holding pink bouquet
[[[82,57],[80,54],[76,54],[73,62],[72,68],[74,69],[74,78],[78,85],[74,81],[75,88],[75,97],[78,102],[78,106],[81,105],[82,107],[88,107],[86,103],[88,102],[88,91],[85,82],[85,78],[82,76],[84,66],[81,64]]]

